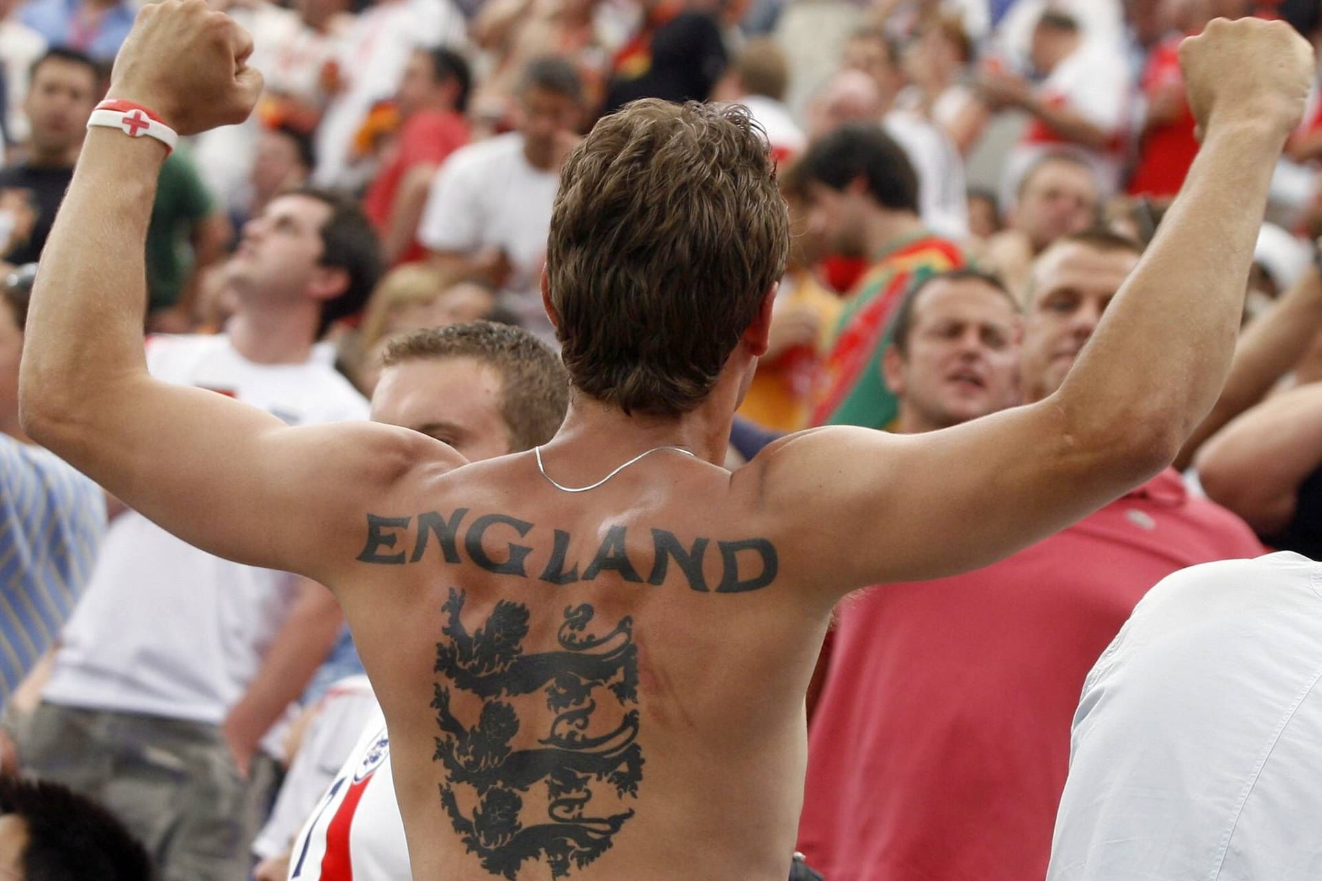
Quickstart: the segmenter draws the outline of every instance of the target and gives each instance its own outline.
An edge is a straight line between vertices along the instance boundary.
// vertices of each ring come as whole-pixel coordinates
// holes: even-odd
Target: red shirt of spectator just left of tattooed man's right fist
[[[1171,37],[1153,49],[1144,69],[1142,90],[1147,98],[1171,88],[1185,90],[1185,74],[1179,69],[1179,44],[1183,37]],[[1165,125],[1157,125],[1144,135],[1138,149],[1138,165],[1129,181],[1132,195],[1174,197],[1185,184],[1188,166],[1198,155],[1194,139],[1194,112],[1183,102],[1179,116]]]

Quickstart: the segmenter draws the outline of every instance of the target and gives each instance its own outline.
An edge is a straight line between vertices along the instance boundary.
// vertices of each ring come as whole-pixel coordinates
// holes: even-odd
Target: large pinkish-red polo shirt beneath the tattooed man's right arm
[[[1261,552],[1167,469],[995,565],[846,600],[798,849],[830,881],[1040,881],[1093,663],[1165,576]]]

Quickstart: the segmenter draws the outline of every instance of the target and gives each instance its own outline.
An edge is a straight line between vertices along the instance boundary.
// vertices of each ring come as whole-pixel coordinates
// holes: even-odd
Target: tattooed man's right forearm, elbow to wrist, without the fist
[[[1058,394],[1085,437],[1105,423],[1169,450],[1207,415],[1229,370],[1248,267],[1285,132],[1214,127],[1138,268]],[[1075,424],[1079,424],[1075,421]]]

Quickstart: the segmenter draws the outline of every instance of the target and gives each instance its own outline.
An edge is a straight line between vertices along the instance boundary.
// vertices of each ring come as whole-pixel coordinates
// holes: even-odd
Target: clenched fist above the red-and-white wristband
[[[108,96],[143,104],[180,135],[241,123],[262,94],[251,53],[253,37],[205,0],[148,3],[115,57]]]

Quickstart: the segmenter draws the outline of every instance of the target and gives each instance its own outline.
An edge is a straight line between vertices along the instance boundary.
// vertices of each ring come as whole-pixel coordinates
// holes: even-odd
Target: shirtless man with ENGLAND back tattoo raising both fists
[[[260,87],[250,46],[204,0],[151,4],[110,94],[180,133],[237,123]],[[543,448],[467,464],[418,432],[290,428],[151,379],[141,246],[165,149],[112,128],[89,132],[46,244],[25,428],[184,539],[336,592],[415,878],[781,881],[836,602],[1084,516],[1170,462],[1216,398],[1314,67],[1259,20],[1214,22],[1185,61],[1203,152],[1038,404],[792,435],[722,469],[785,206],[742,111],[640,102],[564,165],[543,288],[574,390]]]

